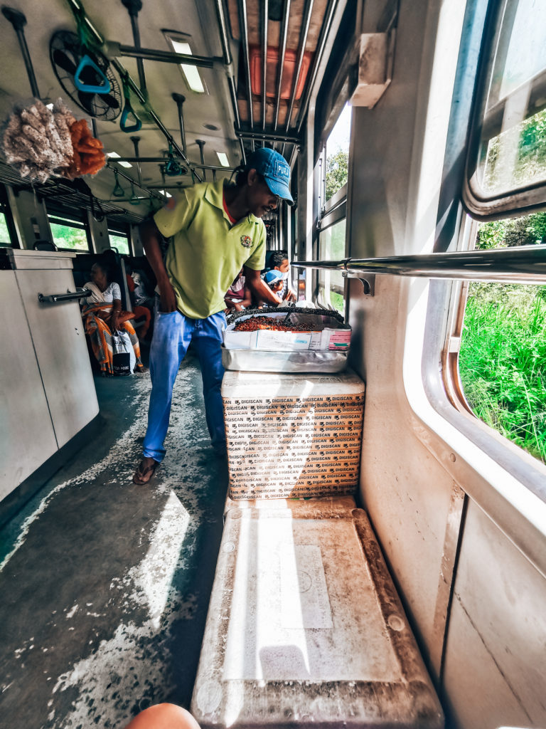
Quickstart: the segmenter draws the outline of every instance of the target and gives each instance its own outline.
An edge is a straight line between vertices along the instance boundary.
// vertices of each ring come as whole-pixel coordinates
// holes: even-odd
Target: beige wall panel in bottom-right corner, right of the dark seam
[[[546,580],[470,502],[444,685],[460,727],[546,726]]]

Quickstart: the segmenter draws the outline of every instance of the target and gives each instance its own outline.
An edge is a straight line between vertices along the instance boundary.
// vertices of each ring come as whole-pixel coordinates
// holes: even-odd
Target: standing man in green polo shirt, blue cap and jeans
[[[236,184],[223,180],[183,190],[141,226],[141,240],[157,278],[161,303],[150,349],[151,396],[143,460],[134,483],[148,483],[165,456],[170,402],[178,367],[193,341],[199,356],[205,414],[215,451],[225,453],[221,343],[226,327],[223,297],[241,268],[257,299],[278,305],[260,278],[266,230],[261,218],[279,200],[293,204],[290,167],[273,149],[248,158]],[[158,233],[171,238],[165,263]]]

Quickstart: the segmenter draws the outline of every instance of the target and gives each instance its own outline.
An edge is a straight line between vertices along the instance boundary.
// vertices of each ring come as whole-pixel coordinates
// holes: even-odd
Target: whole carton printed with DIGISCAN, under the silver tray
[[[364,411],[355,373],[226,372],[222,399],[232,499],[355,491]]]

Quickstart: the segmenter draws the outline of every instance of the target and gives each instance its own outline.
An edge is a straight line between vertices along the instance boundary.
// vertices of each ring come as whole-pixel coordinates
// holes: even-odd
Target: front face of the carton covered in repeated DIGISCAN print
[[[232,499],[350,494],[363,395],[223,398]]]

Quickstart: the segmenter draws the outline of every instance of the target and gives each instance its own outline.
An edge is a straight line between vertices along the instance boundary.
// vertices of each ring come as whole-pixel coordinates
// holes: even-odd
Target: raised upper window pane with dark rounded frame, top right
[[[491,5],[464,190],[470,213],[481,218],[546,201],[546,5]]]

